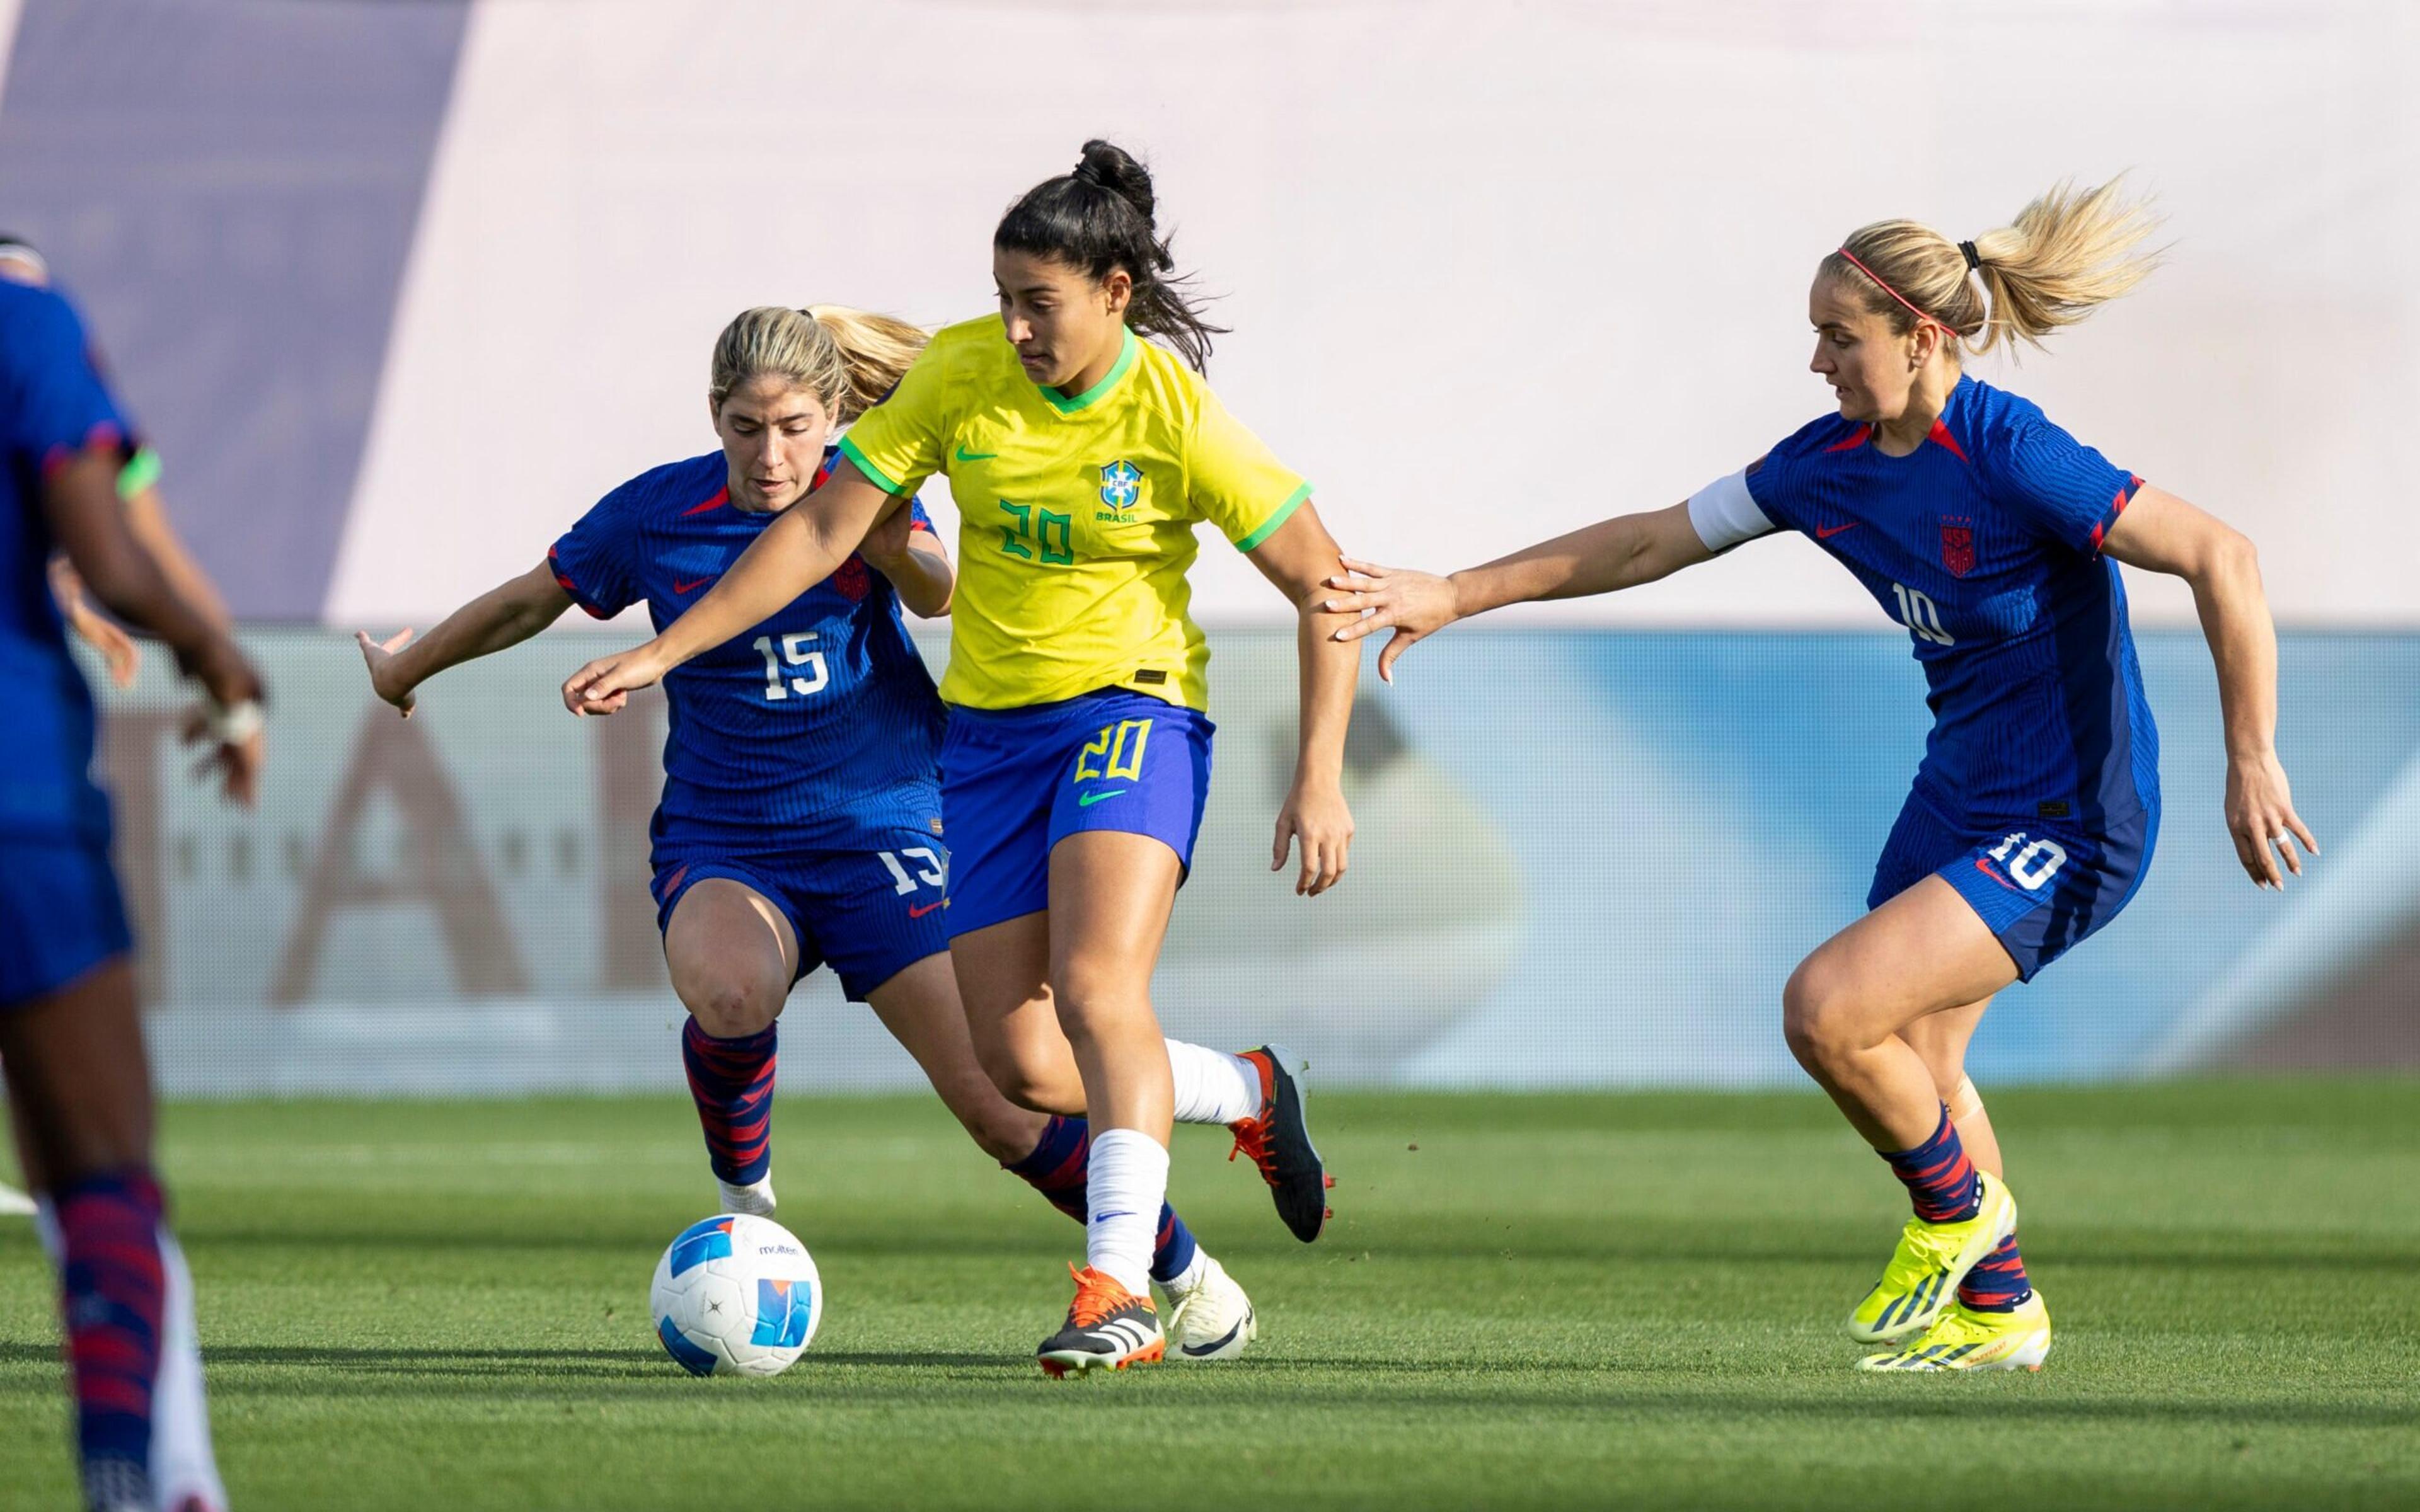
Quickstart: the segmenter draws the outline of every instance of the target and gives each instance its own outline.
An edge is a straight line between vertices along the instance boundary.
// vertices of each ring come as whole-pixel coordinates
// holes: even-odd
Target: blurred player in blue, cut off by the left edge
[[[46,288],[0,278],[0,1062],[44,1243],[58,1260],[85,1502],[225,1505],[194,1335],[194,1280],[150,1171],[152,1098],[133,936],[94,786],[94,709],[68,656],[48,564],[63,552],[126,624],[201,682],[194,735],[230,798],[259,777],[261,680],[128,532],[133,435]]]

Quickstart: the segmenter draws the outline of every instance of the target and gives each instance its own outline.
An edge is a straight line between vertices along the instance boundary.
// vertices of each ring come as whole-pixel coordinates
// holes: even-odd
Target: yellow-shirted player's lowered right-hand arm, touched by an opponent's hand
[[[1295,658],[1302,716],[1295,726],[1295,781],[1278,808],[1278,835],[1268,868],[1283,871],[1287,849],[1302,842],[1295,895],[1316,898],[1346,876],[1353,852],[1353,810],[1346,806],[1346,728],[1353,723],[1353,685],[1360,680],[1360,646],[1336,639],[1341,614],[1326,607],[1324,576],[1341,559],[1336,537],[1312,501],[1278,525],[1251,564],[1295,605]]]

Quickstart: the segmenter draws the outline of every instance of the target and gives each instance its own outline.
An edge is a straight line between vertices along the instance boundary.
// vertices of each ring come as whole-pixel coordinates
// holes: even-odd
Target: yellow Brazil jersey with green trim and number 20
[[[937,334],[840,450],[893,494],[949,474],[961,525],[941,697],[970,709],[1101,687],[1208,709],[1193,525],[1249,552],[1312,491],[1174,353],[1128,331],[1108,377],[1070,399],[1026,377],[997,317]]]

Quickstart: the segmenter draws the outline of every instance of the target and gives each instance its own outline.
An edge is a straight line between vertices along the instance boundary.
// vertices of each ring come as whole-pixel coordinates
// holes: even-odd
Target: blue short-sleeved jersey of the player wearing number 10
[[[2156,806],[2159,731],[2101,554],[2142,479],[1960,377],[1905,457],[1827,416],[1745,481],[1767,520],[1813,537],[1907,627],[1934,711],[1917,796],[1941,815],[2105,827]]]

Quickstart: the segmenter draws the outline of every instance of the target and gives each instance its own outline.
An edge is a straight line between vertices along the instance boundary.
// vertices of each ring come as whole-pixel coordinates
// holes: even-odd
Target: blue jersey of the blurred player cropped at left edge
[[[92,784],[92,692],[68,656],[51,602],[56,542],[44,477],[77,452],[123,455],[128,426],[92,360],[85,327],[60,295],[0,281],[0,837],[109,835],[109,801]]]

